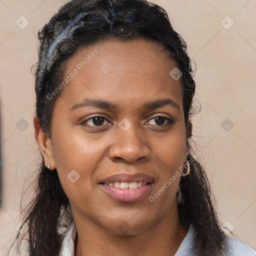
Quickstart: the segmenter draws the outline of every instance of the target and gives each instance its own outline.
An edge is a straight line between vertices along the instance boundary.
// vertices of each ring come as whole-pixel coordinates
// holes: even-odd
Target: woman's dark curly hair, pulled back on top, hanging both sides
[[[61,92],[51,100],[47,95],[63,79],[66,62],[81,47],[106,41],[145,39],[164,47],[181,70],[181,86],[185,125],[194,113],[195,82],[186,43],[173,29],[166,11],[146,0],[71,0],[63,5],[38,32],[39,49],[35,72],[36,115],[41,129],[50,137],[54,103]],[[189,130],[189,137],[191,130]],[[197,159],[188,160],[190,174],[180,179],[177,191],[178,215],[182,225],[193,225],[194,251],[197,256],[220,255],[225,249],[225,235],[214,207],[209,182]],[[56,231],[60,208],[67,209],[68,198],[60,184],[57,172],[49,172],[43,162],[38,170],[36,195],[23,209],[29,256],[56,256],[61,237]],[[20,244],[20,242],[19,242]],[[17,246],[17,250],[18,250]]]

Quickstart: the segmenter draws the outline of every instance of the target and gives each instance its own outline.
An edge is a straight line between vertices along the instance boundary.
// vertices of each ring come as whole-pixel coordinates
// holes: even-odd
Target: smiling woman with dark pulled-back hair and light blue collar
[[[29,255],[255,255],[224,235],[189,144],[195,84],[166,12],[72,0],[38,37]]]

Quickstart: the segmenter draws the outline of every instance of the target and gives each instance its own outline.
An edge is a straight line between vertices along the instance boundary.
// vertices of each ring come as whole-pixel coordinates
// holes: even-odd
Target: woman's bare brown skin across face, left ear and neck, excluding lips
[[[57,169],[69,198],[78,235],[75,256],[174,255],[187,231],[177,212],[180,177],[154,202],[148,197],[174,175],[188,154],[181,81],[169,75],[176,64],[156,42],[112,40],[80,48],[67,62],[65,75],[95,48],[99,52],[57,98],[50,137],[34,117],[44,164],[50,162],[50,169]],[[117,107],[88,105],[69,110],[84,98],[108,100]],[[145,102],[159,99],[171,99],[178,107],[143,108]],[[163,119],[159,125],[156,115],[174,123]],[[85,121],[93,116],[105,117],[103,125]],[[118,127],[123,118],[131,124],[127,131]],[[72,169],[80,175],[74,183],[67,178]],[[120,202],[98,184],[120,172],[145,173],[155,182],[138,201]]]

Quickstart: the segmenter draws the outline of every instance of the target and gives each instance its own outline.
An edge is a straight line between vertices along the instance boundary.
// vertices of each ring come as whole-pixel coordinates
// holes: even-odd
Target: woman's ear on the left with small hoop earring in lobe
[[[39,150],[42,154],[44,165],[47,166],[50,163],[50,169],[54,170],[56,168],[54,157],[53,157],[53,150],[51,145],[51,139],[48,135],[41,130],[40,123],[38,121],[37,116],[34,116],[34,137],[38,144]]]

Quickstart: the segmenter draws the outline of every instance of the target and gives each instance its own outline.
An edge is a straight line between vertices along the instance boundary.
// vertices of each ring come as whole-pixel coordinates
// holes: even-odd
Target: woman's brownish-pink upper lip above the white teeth
[[[99,183],[110,183],[110,182],[135,182],[135,181],[141,181],[141,182],[147,182],[151,183],[154,182],[154,179],[144,173],[134,173],[134,174],[127,174],[127,173],[119,173],[115,175],[108,176],[106,178],[103,178]]]

